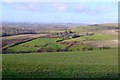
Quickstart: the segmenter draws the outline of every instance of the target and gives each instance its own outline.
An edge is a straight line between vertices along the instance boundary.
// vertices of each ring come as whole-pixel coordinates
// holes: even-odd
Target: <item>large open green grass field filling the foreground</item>
[[[3,54],[3,78],[115,78],[118,51]]]

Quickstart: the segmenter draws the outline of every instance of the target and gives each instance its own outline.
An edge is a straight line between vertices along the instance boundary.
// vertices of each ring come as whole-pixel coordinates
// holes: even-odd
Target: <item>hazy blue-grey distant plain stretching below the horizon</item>
[[[2,36],[16,34],[35,34],[48,33],[54,31],[66,30],[70,27],[81,26],[81,23],[2,23]]]

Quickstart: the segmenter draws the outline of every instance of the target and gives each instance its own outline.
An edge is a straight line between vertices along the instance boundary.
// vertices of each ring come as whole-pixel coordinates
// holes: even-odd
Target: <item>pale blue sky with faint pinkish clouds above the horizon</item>
[[[1,13],[0,13],[1,14]],[[117,2],[2,2],[2,21],[117,23]]]

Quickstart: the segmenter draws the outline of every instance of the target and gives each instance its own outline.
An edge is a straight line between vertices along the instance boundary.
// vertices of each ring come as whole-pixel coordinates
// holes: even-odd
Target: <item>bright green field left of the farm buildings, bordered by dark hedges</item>
[[[51,47],[52,49],[63,48],[61,44],[56,41],[60,38],[37,38],[32,41],[28,41],[7,49],[8,52],[20,52],[20,51],[37,51],[39,49],[47,49]]]

